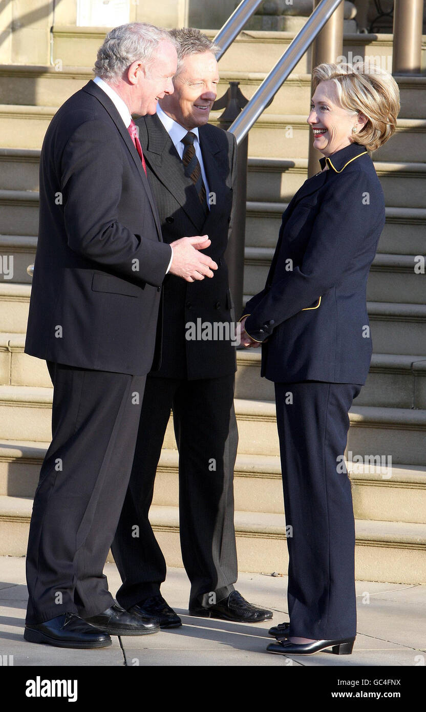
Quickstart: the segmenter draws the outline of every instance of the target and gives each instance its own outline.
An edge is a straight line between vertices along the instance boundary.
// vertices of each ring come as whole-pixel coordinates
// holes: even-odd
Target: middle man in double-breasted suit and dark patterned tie
[[[233,523],[238,431],[230,328],[234,317],[224,253],[233,221],[237,148],[233,135],[208,125],[218,84],[217,46],[191,28],[171,35],[179,44],[174,95],[159,102],[156,115],[137,122],[139,135],[164,241],[203,231],[211,239],[207,252],[218,271],[203,285],[185,284],[174,276],[164,281],[161,368],[147,377],[132,476],[112,545],[123,581],[117,600],[131,612],[158,616],[163,628],[181,625],[160,594],[166,562],[148,519],[173,409],[190,612],[259,622],[272,613],[245,601],[233,586],[238,575]],[[214,325],[219,323],[222,330],[216,334],[225,338],[214,340]],[[206,329],[205,336],[211,325],[213,340],[200,340],[197,324]]]

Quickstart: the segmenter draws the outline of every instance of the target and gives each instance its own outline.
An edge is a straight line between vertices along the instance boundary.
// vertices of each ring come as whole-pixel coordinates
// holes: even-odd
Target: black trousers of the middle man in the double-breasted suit
[[[158,595],[166,562],[148,519],[170,411],[179,449],[179,530],[191,581],[189,606],[229,595],[237,580],[233,469],[238,445],[234,375],[213,379],[147,377],[129,488],[112,553],[125,608]],[[137,525],[137,529],[134,528]]]

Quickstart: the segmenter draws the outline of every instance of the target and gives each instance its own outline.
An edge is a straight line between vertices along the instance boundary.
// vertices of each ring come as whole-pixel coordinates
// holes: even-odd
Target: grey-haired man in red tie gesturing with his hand
[[[110,633],[159,629],[115,604],[102,570],[132,468],[164,276],[192,282],[216,268],[195,248],[205,238],[162,241],[131,117],[154,113],[173,92],[176,65],[165,31],[115,28],[95,81],[58,110],[43,142],[25,350],[48,364],[53,440],[28,540],[31,642],[103,647]]]

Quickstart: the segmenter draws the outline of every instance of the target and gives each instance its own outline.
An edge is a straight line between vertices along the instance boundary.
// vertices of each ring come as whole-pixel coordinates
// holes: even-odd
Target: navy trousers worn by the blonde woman
[[[360,391],[346,383],[275,383],[291,636],[356,635],[355,525],[339,456]]]

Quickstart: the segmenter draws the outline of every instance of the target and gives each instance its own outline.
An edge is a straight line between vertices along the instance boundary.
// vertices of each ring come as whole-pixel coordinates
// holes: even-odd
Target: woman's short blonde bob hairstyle
[[[400,111],[400,90],[393,76],[369,62],[319,64],[312,72],[312,87],[332,81],[342,108],[368,118],[354,143],[376,151],[395,132]]]

